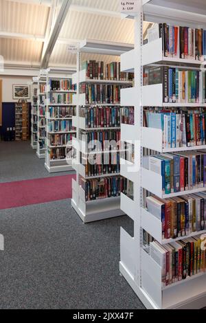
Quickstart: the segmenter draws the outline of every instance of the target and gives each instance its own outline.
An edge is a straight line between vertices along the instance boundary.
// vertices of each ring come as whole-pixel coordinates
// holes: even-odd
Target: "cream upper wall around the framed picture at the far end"
[[[0,79],[3,80],[3,89],[2,89],[2,102],[17,102],[18,100],[13,100],[12,85],[27,85],[27,82],[32,81],[30,76],[1,76]],[[31,94],[31,93],[30,93]],[[27,100],[30,102],[31,100]]]

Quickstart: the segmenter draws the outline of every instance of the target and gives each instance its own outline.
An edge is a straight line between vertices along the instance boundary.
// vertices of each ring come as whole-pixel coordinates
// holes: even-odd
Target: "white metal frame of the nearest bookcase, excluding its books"
[[[162,238],[162,223],[144,208],[144,189],[160,198],[183,196],[184,194],[205,191],[206,188],[196,188],[192,191],[163,195],[162,178],[155,172],[143,168],[145,148],[159,153],[178,151],[192,151],[205,149],[206,146],[185,148],[162,148],[162,132],[159,129],[150,129],[143,126],[144,107],[205,107],[205,104],[165,104],[163,103],[162,85],[143,84],[143,67],[146,65],[172,65],[199,69],[201,63],[196,60],[180,58],[165,58],[162,53],[162,40],[158,39],[143,45],[142,26],[144,21],[152,23],[167,22],[171,25],[187,27],[206,27],[205,1],[166,1],[166,0],[139,0],[137,14],[124,15],[135,21],[135,49],[122,54],[122,71],[135,72],[135,87],[124,89],[121,93],[121,104],[135,107],[135,126],[122,125],[122,141],[136,142],[135,166],[136,171],[120,168],[124,176],[133,176],[134,199],[121,195],[121,208],[134,221],[134,236],[130,236],[121,228],[120,273],[128,281],[137,296],[147,309],[201,309],[206,306],[206,273],[202,272],[185,280],[174,282],[166,287],[161,282],[161,266],[150,256],[143,245],[143,230],[155,238],[161,245],[179,241],[184,238],[195,237],[202,232],[170,240]],[[140,86],[141,85],[141,86]],[[139,142],[137,144],[137,142]],[[134,168],[135,169],[135,168]],[[123,175],[123,173],[122,173]]]

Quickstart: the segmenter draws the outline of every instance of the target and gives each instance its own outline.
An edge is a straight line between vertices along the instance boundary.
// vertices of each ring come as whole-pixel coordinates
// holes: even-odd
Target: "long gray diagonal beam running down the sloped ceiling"
[[[49,65],[49,58],[50,58],[52,51],[54,49],[54,46],[56,44],[58,35],[60,34],[60,30],[62,29],[62,25],[65,21],[66,16],[67,16],[67,12],[69,11],[71,1],[72,0],[63,0],[63,2],[62,2],[60,12],[58,14],[58,17],[56,19],[56,23],[54,25],[54,29],[52,30],[52,33],[49,36],[49,41],[47,43],[45,53],[43,54],[43,58],[41,60],[41,68],[43,68],[43,69],[46,69]]]

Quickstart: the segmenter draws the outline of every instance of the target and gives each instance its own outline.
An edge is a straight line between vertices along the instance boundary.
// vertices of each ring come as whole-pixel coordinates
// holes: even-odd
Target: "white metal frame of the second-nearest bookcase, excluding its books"
[[[87,144],[80,144],[81,131],[88,133],[89,131],[106,130],[104,128],[87,129],[85,118],[80,114],[81,107],[120,107],[120,104],[87,104],[86,96],[84,93],[80,93],[80,86],[82,84],[102,84],[102,85],[131,85],[132,82],[119,81],[119,80],[91,80],[87,78],[86,70],[81,69],[82,53],[90,54],[104,54],[119,56],[120,54],[133,49],[133,45],[122,43],[108,43],[108,42],[94,42],[90,40],[84,40],[80,43],[80,49],[77,53],[77,72],[73,74],[73,84],[77,85],[77,93],[74,96],[74,104],[76,104],[76,116],[73,117],[73,126],[76,127],[76,138],[73,138],[73,148],[75,158],[72,161],[73,168],[76,170],[76,180],[73,179],[72,183],[72,200],[71,204],[76,210],[80,219],[84,223],[92,221],[98,221],[102,219],[108,219],[114,216],[121,216],[124,214],[120,210],[120,197],[110,197],[106,199],[97,199],[94,201],[87,201],[85,191],[80,184],[80,177],[87,181],[87,179],[103,179],[104,177],[116,177],[119,173],[113,173],[108,175],[98,175],[96,177],[87,177],[85,171],[85,165],[82,164],[80,156],[86,153]],[[116,129],[116,128],[115,128]],[[107,129],[112,130],[112,129]],[[120,130],[120,129],[119,129]]]

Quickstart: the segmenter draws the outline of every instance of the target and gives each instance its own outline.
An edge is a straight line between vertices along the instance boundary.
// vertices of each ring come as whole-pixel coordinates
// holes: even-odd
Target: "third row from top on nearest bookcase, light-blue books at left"
[[[163,148],[205,145],[206,114],[199,109],[170,111],[155,108],[144,111],[145,126],[161,129]]]

